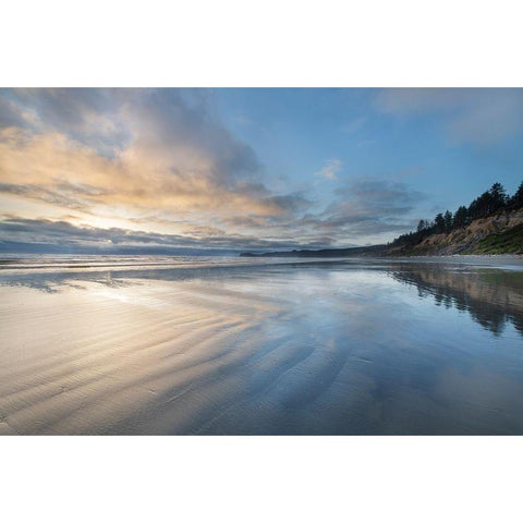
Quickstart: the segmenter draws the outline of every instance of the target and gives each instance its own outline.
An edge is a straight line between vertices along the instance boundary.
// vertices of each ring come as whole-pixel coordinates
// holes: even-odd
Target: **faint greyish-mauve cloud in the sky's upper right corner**
[[[490,146],[523,132],[523,89],[382,89],[374,105],[401,118],[437,115],[455,144]]]

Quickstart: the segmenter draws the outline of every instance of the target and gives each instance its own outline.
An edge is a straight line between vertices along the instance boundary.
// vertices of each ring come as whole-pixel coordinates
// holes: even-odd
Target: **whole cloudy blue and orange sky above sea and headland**
[[[523,89],[0,89],[0,252],[386,243],[523,181]]]

